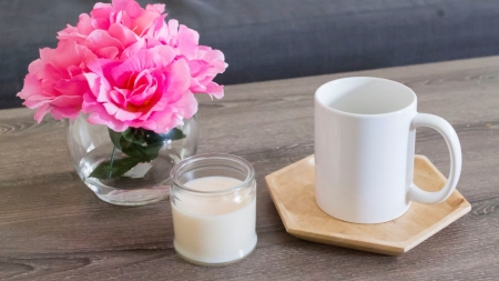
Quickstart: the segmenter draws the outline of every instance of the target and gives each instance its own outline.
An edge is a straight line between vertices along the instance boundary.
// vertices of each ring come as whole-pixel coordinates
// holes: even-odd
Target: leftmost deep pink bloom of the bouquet
[[[72,40],[60,43],[57,49],[41,49],[40,59],[29,66],[24,88],[18,97],[26,100],[26,107],[38,108],[34,116],[38,122],[48,112],[58,120],[74,119],[89,90],[83,72],[93,59],[95,56],[90,50]]]

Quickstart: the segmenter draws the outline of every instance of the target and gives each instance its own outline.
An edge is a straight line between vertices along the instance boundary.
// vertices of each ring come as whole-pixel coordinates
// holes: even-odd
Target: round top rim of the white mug
[[[371,113],[371,114],[369,114],[369,113],[353,113],[353,112],[343,111],[343,110],[339,110],[339,109],[335,109],[335,108],[328,107],[327,104],[325,104],[324,102],[322,102],[319,100],[319,98],[318,98],[319,92],[323,91],[324,88],[326,88],[326,87],[328,87],[328,86],[330,86],[333,83],[338,83],[338,82],[346,81],[346,80],[371,80],[371,81],[379,81],[379,82],[383,82],[383,83],[388,83],[388,84],[391,84],[391,86],[398,86],[398,87],[405,88],[405,90],[408,90],[408,92],[410,93],[413,100],[410,101],[409,104],[407,104],[407,106],[405,106],[405,107],[403,107],[400,109],[388,111],[388,112],[384,112],[384,113]],[[330,112],[334,112],[334,113],[338,113],[338,114],[342,114],[342,116],[356,117],[356,118],[380,118],[380,117],[388,117],[388,116],[393,116],[393,114],[398,114],[398,113],[400,113],[403,111],[406,111],[406,110],[413,108],[417,103],[417,96],[416,96],[416,92],[413,89],[410,89],[409,87],[407,87],[407,86],[405,86],[405,84],[403,84],[400,82],[397,82],[397,81],[394,81],[394,80],[389,80],[389,79],[385,79],[385,78],[377,78],[377,77],[345,77],[345,78],[334,79],[334,80],[330,80],[330,81],[322,84],[319,88],[317,88],[317,90],[315,91],[314,96],[315,96],[314,99],[315,99],[316,104],[320,106],[322,108],[326,109],[327,111],[330,111]]]

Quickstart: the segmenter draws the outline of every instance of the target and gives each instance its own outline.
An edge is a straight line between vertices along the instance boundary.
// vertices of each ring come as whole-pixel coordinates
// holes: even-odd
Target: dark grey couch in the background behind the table
[[[0,2],[0,109],[28,64],[96,0]],[[105,1],[105,0],[101,0]],[[109,0],[108,0],[109,1]],[[230,64],[223,84],[499,54],[497,0],[149,0]]]

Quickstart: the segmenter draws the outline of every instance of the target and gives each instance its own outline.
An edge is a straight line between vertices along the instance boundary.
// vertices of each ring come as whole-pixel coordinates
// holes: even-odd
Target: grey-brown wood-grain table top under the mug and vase
[[[472,211],[399,257],[312,243],[286,233],[264,177],[314,152],[313,94],[348,76],[394,79],[419,111],[459,134],[458,190]],[[243,262],[201,268],[173,250],[169,201],[121,208],[100,201],[69,162],[64,123],[0,111],[1,280],[499,280],[499,57],[226,87],[201,99],[198,152],[253,163],[258,244]],[[445,173],[444,139],[418,130],[416,152]]]

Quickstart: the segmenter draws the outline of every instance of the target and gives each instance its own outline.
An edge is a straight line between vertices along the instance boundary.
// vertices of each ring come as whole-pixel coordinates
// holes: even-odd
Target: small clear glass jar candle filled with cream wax
[[[249,162],[198,154],[179,162],[170,179],[177,254],[201,265],[223,265],[253,251],[256,181]]]

